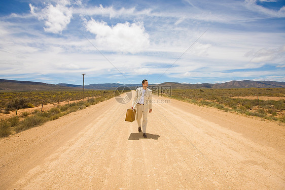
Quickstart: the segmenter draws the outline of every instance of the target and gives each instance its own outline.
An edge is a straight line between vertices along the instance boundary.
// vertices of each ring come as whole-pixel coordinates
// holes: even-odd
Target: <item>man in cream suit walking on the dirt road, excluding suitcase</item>
[[[138,132],[141,132],[141,116],[142,116],[142,135],[147,138],[146,130],[148,124],[148,111],[152,112],[152,90],[148,88],[148,80],[141,82],[142,87],[136,88],[132,107],[136,106],[136,121],[138,125]]]

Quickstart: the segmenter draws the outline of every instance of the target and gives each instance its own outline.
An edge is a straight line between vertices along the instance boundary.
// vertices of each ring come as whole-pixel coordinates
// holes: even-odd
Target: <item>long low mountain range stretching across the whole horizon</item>
[[[85,89],[116,89],[124,84],[119,83],[103,83],[103,84],[89,84],[85,85]],[[135,89],[141,84],[125,84],[131,89]],[[171,86],[172,89],[210,89],[210,88],[283,88],[285,87],[285,82],[275,82],[275,81],[230,81],[224,83],[203,83],[203,84],[186,84],[179,82],[164,82],[161,84],[150,84],[150,86]],[[0,91],[28,91],[28,90],[67,90],[67,89],[80,89],[83,88],[82,85],[75,84],[47,84],[42,82],[30,82],[30,81],[17,81],[17,80],[5,80],[0,79]]]

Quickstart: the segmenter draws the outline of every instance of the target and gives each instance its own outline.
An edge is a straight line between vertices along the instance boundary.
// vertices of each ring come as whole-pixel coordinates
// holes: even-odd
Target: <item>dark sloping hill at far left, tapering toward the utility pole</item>
[[[4,80],[0,79],[1,91],[28,91],[28,90],[60,90],[60,89],[73,89],[70,87],[59,86],[55,84],[47,84],[43,82],[31,81],[18,81],[18,80]]]

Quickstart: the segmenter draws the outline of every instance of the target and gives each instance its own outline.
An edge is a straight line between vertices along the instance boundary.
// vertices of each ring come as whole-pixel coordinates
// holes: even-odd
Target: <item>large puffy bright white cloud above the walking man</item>
[[[106,22],[98,22],[92,18],[85,21],[85,27],[96,35],[96,47],[102,50],[137,53],[149,47],[149,35],[142,22],[109,26]]]

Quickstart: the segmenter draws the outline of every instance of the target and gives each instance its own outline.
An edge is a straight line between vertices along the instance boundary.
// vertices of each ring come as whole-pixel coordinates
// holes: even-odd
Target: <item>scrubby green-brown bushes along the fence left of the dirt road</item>
[[[67,93],[68,92],[68,93]],[[18,94],[19,93],[19,94]],[[28,108],[31,105],[39,105],[42,101],[51,96],[52,99],[45,99],[49,103],[57,103],[60,99],[61,101],[66,100],[76,100],[75,97],[80,97],[79,95],[83,92],[81,91],[55,91],[55,94],[52,95],[52,92],[46,91],[33,91],[33,92],[2,92],[1,103],[8,102],[7,104],[2,104],[2,108],[8,110],[5,112],[10,112],[9,110],[15,110],[18,108]],[[29,94],[29,95],[27,95]],[[32,113],[22,112],[21,117],[14,116],[8,119],[2,119],[0,121],[0,137],[7,137],[13,133],[19,133],[21,131],[33,128],[34,126],[39,126],[46,121],[55,120],[63,115],[66,115],[71,112],[75,112],[79,109],[84,109],[90,105],[97,104],[99,102],[111,99],[114,97],[114,91],[112,90],[86,90],[85,92],[87,101],[79,101],[77,103],[66,104],[64,106],[58,106],[57,108],[52,108],[45,112],[40,112],[35,110]],[[118,96],[119,92],[115,91],[115,96]],[[60,97],[60,98],[58,98]],[[83,97],[83,94],[82,94]],[[6,100],[6,101],[5,101]],[[86,100],[86,99],[85,99]],[[25,105],[25,106],[24,106]]]

